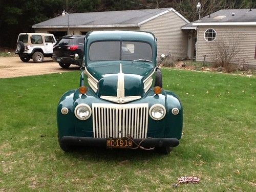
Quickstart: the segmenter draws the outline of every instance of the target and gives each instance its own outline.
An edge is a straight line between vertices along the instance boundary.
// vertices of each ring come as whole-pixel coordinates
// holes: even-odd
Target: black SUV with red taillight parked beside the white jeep
[[[62,68],[71,64],[82,66],[84,35],[66,35],[61,37],[53,47],[52,59]]]

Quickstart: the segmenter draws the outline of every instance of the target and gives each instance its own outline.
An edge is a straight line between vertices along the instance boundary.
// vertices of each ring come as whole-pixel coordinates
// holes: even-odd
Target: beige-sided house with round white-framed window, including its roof
[[[197,28],[196,61],[211,62],[216,49],[237,46],[232,62],[256,69],[256,9],[223,9],[187,25]]]

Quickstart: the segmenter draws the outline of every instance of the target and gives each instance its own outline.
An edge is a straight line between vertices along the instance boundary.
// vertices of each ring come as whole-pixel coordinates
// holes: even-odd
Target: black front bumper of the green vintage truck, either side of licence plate
[[[143,140],[143,141],[142,141]],[[106,146],[106,138],[92,138],[92,137],[72,137],[64,136],[59,138],[59,141],[67,145],[81,145],[81,146]],[[142,147],[176,147],[180,141],[176,138],[146,138],[133,139],[137,144],[140,143]]]

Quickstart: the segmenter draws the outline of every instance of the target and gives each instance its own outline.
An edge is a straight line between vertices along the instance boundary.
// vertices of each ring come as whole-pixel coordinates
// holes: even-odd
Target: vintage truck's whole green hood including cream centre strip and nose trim
[[[88,66],[87,72],[98,81],[98,97],[117,103],[140,99],[144,94],[143,81],[154,72],[154,67],[148,63],[138,64],[119,62]]]

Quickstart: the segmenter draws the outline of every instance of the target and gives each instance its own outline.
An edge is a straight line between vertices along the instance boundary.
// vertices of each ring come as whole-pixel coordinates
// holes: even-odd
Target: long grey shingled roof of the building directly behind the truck
[[[97,27],[139,27],[140,25],[173,11],[185,22],[189,21],[173,8],[140,9],[127,11],[104,11],[89,13],[70,13],[69,27],[97,28]],[[67,16],[58,16],[32,26],[32,28],[66,28]]]

